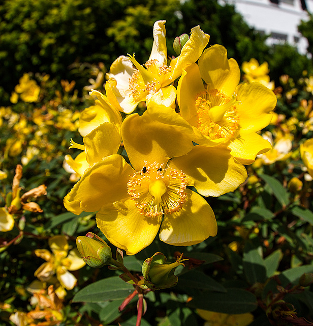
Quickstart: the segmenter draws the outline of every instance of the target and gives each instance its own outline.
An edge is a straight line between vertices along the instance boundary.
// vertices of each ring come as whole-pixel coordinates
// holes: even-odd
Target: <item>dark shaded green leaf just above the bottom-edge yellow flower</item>
[[[243,314],[258,307],[256,296],[243,289],[230,288],[226,293],[204,292],[187,303],[188,307],[222,312]]]

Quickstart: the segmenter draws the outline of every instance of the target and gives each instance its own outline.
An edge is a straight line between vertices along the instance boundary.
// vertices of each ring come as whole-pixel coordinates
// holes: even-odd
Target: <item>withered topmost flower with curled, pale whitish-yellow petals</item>
[[[196,26],[191,31],[190,39],[182,47],[180,55],[168,66],[165,22],[159,20],[153,25],[154,42],[145,68],[136,61],[135,55],[121,56],[111,65],[110,72],[107,73],[110,79],[105,86],[106,94],[110,100],[117,99],[120,111],[132,113],[139,102],[154,94],[158,95],[153,99],[153,103],[157,101],[157,104],[172,106],[175,102],[175,88],[169,85],[181,75],[187,64],[199,59],[208,44],[209,35]]]

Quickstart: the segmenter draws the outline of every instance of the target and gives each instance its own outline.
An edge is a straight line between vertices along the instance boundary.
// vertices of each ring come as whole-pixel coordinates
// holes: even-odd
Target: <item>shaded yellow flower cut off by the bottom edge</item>
[[[245,314],[223,314],[209,310],[197,309],[201,318],[207,322],[206,326],[247,326],[253,320],[253,314],[247,312]]]

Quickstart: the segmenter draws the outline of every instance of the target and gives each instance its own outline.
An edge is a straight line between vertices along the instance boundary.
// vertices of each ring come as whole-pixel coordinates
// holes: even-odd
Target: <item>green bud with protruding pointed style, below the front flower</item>
[[[174,275],[174,270],[177,266],[183,265],[182,255],[174,262],[169,263],[166,257],[158,252],[152,257],[147,258],[142,265],[142,274],[145,285],[154,290],[166,289],[177,284],[178,278]]]

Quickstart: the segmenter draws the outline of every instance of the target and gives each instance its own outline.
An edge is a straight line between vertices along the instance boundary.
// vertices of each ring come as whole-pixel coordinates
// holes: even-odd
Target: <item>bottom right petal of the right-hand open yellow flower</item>
[[[256,156],[267,152],[272,148],[271,144],[255,132],[240,131],[240,135],[232,140],[228,147],[231,155],[242,164],[252,164]]]

